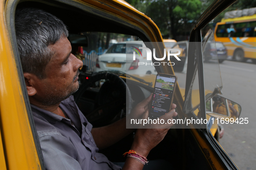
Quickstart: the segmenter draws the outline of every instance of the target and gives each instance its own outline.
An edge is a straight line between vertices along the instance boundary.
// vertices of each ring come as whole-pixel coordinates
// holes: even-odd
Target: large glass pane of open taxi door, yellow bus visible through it
[[[250,96],[256,96],[256,18],[255,15],[249,13],[251,9],[255,10],[252,7],[255,7],[252,3],[246,4],[242,1],[237,1],[206,26],[207,30],[209,28],[215,30],[215,40],[221,42],[226,48],[221,52],[219,51],[218,54],[218,57],[224,55],[225,51],[227,54],[226,60],[219,58],[223,82],[223,88],[221,89],[223,94],[220,96],[241,105],[240,120],[245,118],[255,120],[256,118],[254,114],[255,100],[250,98]],[[243,16],[234,15],[238,14],[237,9],[243,11]],[[205,33],[202,31],[202,35],[205,35]],[[218,52],[218,45],[220,44],[217,42]],[[209,65],[210,63],[207,64]],[[243,167],[254,169],[253,167],[255,167],[254,159],[252,158],[256,152],[255,147],[253,147],[255,138],[250,135],[255,131],[255,123],[254,121],[251,122],[252,124],[250,124],[250,121],[248,124],[219,122],[221,128],[224,129],[224,136],[220,139],[221,147],[240,169],[243,169]],[[241,147],[243,142],[246,142],[246,147],[242,151],[238,148]]]

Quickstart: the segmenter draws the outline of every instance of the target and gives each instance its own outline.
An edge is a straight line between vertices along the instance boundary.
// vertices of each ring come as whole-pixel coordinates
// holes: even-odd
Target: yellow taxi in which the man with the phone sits
[[[188,66],[185,88],[182,89],[177,85],[174,93],[173,103],[177,105],[176,111],[178,112],[175,119],[188,120],[193,118],[200,121],[200,119],[209,120],[210,118],[206,114],[205,101],[217,95],[221,86],[218,88],[213,86],[214,89],[211,90],[211,94],[208,93],[210,95],[205,96],[201,29],[233,2],[234,0],[214,1],[202,13],[191,31],[190,41],[198,42],[198,44],[190,44],[188,53],[186,53],[188,55]],[[23,6],[44,9],[52,13],[68,26],[69,32],[72,34],[78,32],[90,34],[92,31],[113,32],[137,36],[144,42],[162,43],[162,35],[156,24],[124,0],[2,1],[0,4],[1,170],[45,170],[16,42],[14,16],[16,9]],[[98,39],[89,42],[96,42],[95,44],[97,44]],[[141,43],[141,45],[143,44]],[[163,56],[162,50],[157,50],[157,53],[159,53],[159,56]],[[123,62],[117,57],[113,58],[118,61],[117,63]],[[113,58],[110,63],[113,62]],[[155,62],[156,60],[153,59],[152,61]],[[168,60],[165,59],[164,62],[168,62]],[[157,72],[175,74],[172,66],[166,64],[155,66],[155,69]],[[109,70],[111,72],[111,69]],[[143,71],[145,74],[146,70]],[[85,106],[86,109],[91,107],[93,111],[86,116],[88,120],[90,118],[90,121],[96,122],[97,126],[110,124],[123,118],[132,106],[148,97],[154,90],[151,82],[154,82],[152,79],[156,78],[155,75],[144,75],[138,79],[138,77],[134,78],[122,72],[114,71],[112,72],[115,75],[113,78],[113,76],[107,76],[110,75],[109,72],[81,72],[80,74],[80,78],[84,77],[84,81],[81,81],[81,88],[78,91],[81,95],[76,96],[77,103],[81,110]],[[196,76],[199,79],[194,81]],[[211,78],[211,75],[209,78]],[[218,81],[221,80],[220,76],[218,78]],[[105,81],[103,85],[101,85],[102,79]],[[179,77],[178,83],[180,80]],[[212,79],[214,81],[212,85],[216,85],[215,80]],[[198,89],[194,90],[196,85]],[[131,90],[128,93],[130,98],[128,98],[127,103],[126,88],[122,87],[129,87]],[[198,103],[194,104],[195,101],[198,101]],[[214,112],[214,110],[212,111]],[[219,115],[211,113],[211,116],[218,117]],[[170,169],[238,169],[217,142],[217,137],[214,138],[214,136],[218,136],[216,126],[213,125],[209,128],[206,124],[201,126],[191,124],[189,128],[185,128],[183,125],[173,127],[163,141],[149,153],[147,158],[149,162],[152,162],[150,166],[159,168],[159,163],[161,165],[161,162],[165,161],[168,162]],[[130,149],[133,137],[134,134],[131,133],[112,147],[100,150],[100,152],[104,153],[112,162],[123,162],[125,158],[122,154]]]

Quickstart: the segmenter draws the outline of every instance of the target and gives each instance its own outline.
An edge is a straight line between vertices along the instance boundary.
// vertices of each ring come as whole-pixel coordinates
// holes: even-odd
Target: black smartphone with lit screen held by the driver
[[[171,110],[177,76],[158,73],[149,109],[149,118],[157,119]]]

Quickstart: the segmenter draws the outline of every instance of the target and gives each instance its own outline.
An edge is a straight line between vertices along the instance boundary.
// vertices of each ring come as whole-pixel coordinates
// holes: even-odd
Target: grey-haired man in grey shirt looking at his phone
[[[16,11],[15,28],[26,89],[47,170],[118,170],[99,149],[113,145],[134,129],[126,119],[93,128],[78,109],[73,94],[78,90],[81,60],[71,54],[68,30],[55,16],[41,9]],[[151,95],[139,103],[130,116],[147,116]],[[176,116],[176,105],[162,116]],[[138,129],[124,170],[141,170],[147,155],[165,137],[163,129]],[[120,155],[121,156],[121,155]]]

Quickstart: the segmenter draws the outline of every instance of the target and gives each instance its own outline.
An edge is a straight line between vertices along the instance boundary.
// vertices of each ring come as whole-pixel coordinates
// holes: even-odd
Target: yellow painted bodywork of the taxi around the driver
[[[43,170],[40,145],[32,121],[23,72],[13,32],[13,19],[18,0],[0,0],[0,170]],[[54,8],[59,4],[75,6],[85,13],[86,9],[120,19],[123,25],[134,25],[149,41],[162,42],[159,28],[145,14],[124,0],[63,0],[40,1]],[[96,15],[96,14],[95,14]],[[112,18],[109,18],[110,20]],[[170,69],[171,68],[171,69]],[[172,67],[163,67],[168,74],[175,74]],[[150,81],[149,77],[146,78]],[[154,81],[153,81],[154,82]],[[181,118],[185,90],[176,87],[174,103]],[[190,129],[197,145],[212,169],[225,169],[218,153],[198,130]],[[216,131],[215,131],[216,132]],[[212,130],[212,133],[215,133]],[[184,160],[185,161],[185,160]]]

